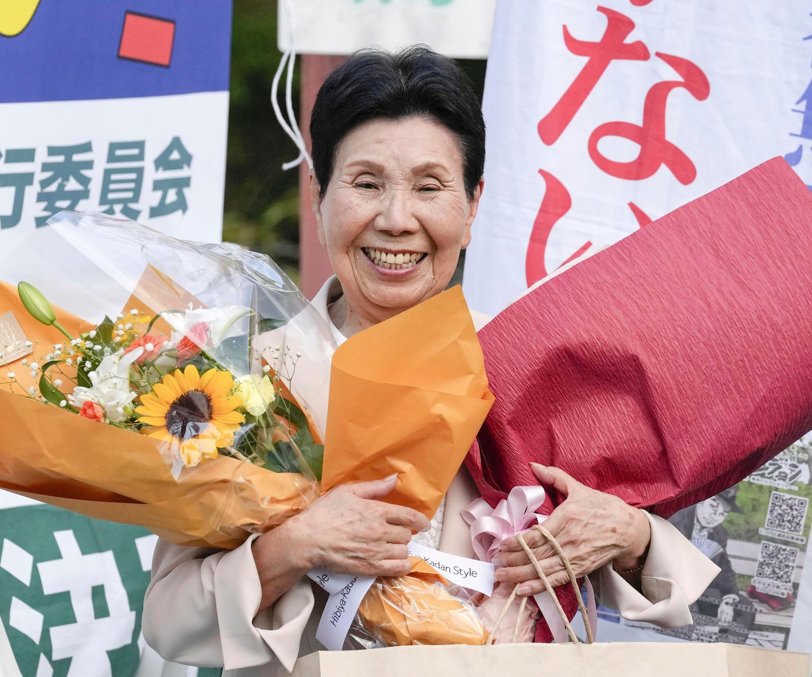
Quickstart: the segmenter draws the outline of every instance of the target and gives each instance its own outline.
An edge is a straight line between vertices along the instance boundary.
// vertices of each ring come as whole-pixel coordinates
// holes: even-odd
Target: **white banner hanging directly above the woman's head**
[[[495,0],[279,0],[279,50],[352,54],[424,43],[457,59],[485,59]],[[287,14],[292,8],[292,16]]]

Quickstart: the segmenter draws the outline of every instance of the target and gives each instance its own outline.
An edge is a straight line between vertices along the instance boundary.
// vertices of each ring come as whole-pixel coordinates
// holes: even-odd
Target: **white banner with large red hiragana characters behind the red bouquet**
[[[494,315],[776,155],[812,184],[805,0],[503,0],[464,291]]]

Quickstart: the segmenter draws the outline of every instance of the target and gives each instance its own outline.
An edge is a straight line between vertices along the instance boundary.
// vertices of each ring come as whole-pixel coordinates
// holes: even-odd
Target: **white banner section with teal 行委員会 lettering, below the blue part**
[[[220,241],[227,119],[227,92],[0,105],[0,247],[63,209]]]

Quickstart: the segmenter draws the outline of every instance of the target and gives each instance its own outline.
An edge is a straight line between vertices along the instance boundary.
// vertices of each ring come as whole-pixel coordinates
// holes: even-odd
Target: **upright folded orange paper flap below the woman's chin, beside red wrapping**
[[[333,355],[322,486],[396,472],[382,500],[431,518],[493,400],[460,287],[366,329]]]

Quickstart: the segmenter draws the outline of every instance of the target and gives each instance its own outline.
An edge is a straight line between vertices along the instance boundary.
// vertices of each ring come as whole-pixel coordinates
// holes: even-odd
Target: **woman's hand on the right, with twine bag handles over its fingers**
[[[585,487],[559,468],[536,463],[530,467],[542,484],[567,497],[544,521],[544,527],[558,540],[578,578],[612,560],[615,569],[633,569],[643,563],[651,527],[641,510],[616,496]],[[544,537],[535,530],[523,536],[551,585],[555,588],[567,583],[564,563]],[[519,584],[520,595],[535,595],[546,589],[516,536],[503,540],[499,549],[493,560],[499,567],[496,580]]]

